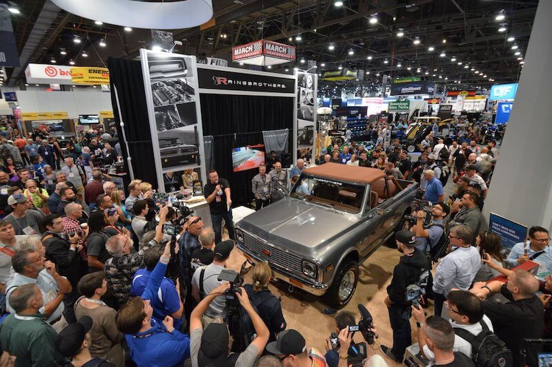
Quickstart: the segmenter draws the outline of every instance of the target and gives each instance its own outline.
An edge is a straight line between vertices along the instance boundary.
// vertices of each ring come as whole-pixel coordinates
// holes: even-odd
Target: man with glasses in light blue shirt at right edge
[[[531,227],[529,229],[529,241],[513,245],[506,262],[514,267],[529,260],[534,261],[546,270],[552,271],[552,249],[549,247],[550,235],[542,227]],[[546,271],[539,269],[539,273]]]

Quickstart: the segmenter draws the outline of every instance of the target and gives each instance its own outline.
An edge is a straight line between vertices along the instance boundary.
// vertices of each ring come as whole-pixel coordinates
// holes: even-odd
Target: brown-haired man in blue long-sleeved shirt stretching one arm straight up
[[[190,337],[175,329],[172,317],[165,316],[162,324],[152,317],[150,302],[157,297],[169,260],[170,242],[167,242],[144,293],[131,298],[115,316],[117,328],[125,334],[130,357],[138,366],[182,366],[190,357]]]

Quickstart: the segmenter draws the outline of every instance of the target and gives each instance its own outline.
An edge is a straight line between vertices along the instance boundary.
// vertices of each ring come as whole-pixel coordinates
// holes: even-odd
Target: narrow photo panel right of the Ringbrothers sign
[[[303,158],[316,161],[316,92],[317,74],[296,72],[297,77],[297,118],[295,123],[294,143],[295,160]],[[295,164],[295,162],[294,162]]]

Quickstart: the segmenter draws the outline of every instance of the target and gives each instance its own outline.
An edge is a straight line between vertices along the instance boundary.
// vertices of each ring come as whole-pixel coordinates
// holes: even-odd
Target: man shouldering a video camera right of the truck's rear
[[[450,211],[451,209],[444,202],[437,202],[431,207],[431,222],[427,228],[424,228],[426,211],[419,210],[412,213],[416,218],[416,224],[411,228],[416,236],[416,249],[423,253],[432,252],[444,233],[443,220]]]

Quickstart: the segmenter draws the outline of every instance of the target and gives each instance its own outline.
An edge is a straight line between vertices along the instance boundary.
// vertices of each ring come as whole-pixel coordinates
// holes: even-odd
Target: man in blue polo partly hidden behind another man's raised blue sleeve
[[[146,285],[150,279],[151,272],[155,269],[159,258],[163,253],[163,247],[154,246],[144,251],[144,264],[146,269],[138,269],[132,277],[132,286],[130,286],[130,294],[138,296],[144,293]],[[163,278],[161,281],[161,287],[157,291],[156,297],[150,300],[150,304],[153,307],[152,317],[159,324],[163,322],[165,316],[169,315],[175,319],[175,328],[180,330],[182,325],[182,313],[184,311],[184,304],[180,297],[180,286],[177,281],[177,286],[172,280]]]

